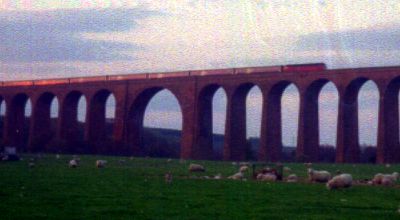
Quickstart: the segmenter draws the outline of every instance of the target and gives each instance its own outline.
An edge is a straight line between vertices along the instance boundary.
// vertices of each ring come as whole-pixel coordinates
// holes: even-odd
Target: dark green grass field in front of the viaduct
[[[400,219],[400,188],[354,186],[328,191],[323,184],[266,183],[253,180],[192,179],[190,161],[81,156],[76,169],[70,155],[46,155],[29,168],[23,161],[0,162],[0,219]],[[108,166],[96,169],[96,159]],[[125,160],[119,164],[119,160]],[[207,172],[228,176],[230,162],[199,162]],[[300,177],[303,164],[285,164]],[[315,164],[354,179],[400,171],[378,165]],[[164,182],[171,171],[172,184]]]

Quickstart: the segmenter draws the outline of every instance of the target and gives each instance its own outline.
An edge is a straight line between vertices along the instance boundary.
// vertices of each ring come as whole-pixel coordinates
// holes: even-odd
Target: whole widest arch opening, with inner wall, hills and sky
[[[180,157],[183,117],[180,103],[170,90],[146,89],[131,105],[128,117],[128,153]]]

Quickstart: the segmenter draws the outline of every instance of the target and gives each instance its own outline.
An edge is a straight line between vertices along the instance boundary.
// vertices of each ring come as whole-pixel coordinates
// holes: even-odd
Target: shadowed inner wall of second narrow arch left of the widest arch
[[[63,141],[61,151],[69,153],[90,153],[84,141],[84,123],[78,120],[78,103],[85,95],[77,90],[69,92],[62,101],[60,114],[60,136]]]

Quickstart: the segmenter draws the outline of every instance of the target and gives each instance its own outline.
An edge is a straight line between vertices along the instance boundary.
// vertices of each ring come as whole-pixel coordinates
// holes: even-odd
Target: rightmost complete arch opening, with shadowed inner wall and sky
[[[378,106],[376,101],[379,97],[379,93],[376,96],[376,92],[378,92],[376,84],[363,77],[354,79],[346,87],[339,110],[338,132],[341,132],[339,136],[341,138],[338,138],[336,149],[337,162],[357,163],[376,160]]]

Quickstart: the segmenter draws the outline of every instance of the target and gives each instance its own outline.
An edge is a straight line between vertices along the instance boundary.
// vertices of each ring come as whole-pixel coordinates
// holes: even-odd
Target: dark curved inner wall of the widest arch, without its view
[[[133,103],[130,105],[128,112],[127,130],[128,130],[128,143],[130,145],[130,149],[128,149],[129,154],[133,154],[136,156],[148,156],[148,154],[150,153],[147,152],[147,149],[144,149],[144,126],[143,126],[144,116],[149,102],[157,93],[159,93],[162,90],[169,91],[177,100],[181,112],[181,117],[183,120],[181,102],[179,101],[178,96],[174,94],[172,90],[164,87],[152,87],[140,92],[139,95],[136,96]],[[182,143],[180,143],[179,148],[181,148],[181,145]],[[178,149],[177,151],[179,152],[177,152],[176,155],[173,155],[174,157],[180,156],[181,149]]]

